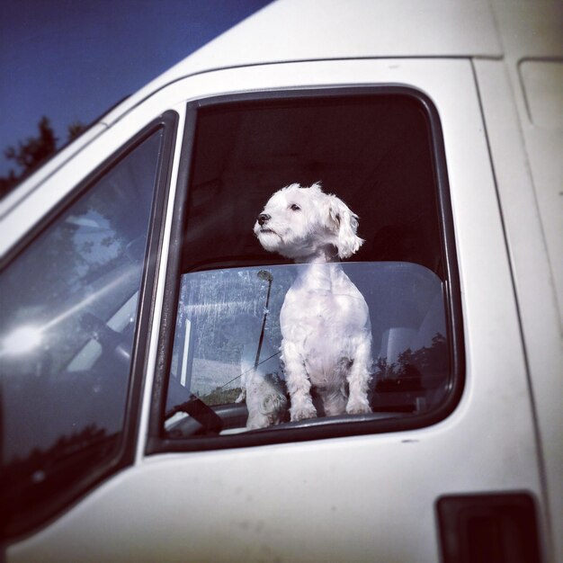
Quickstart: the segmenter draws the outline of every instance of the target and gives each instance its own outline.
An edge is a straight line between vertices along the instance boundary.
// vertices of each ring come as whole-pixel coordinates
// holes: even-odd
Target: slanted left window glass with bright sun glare
[[[92,473],[118,444],[162,139],[124,156],[2,273],[4,512]]]

